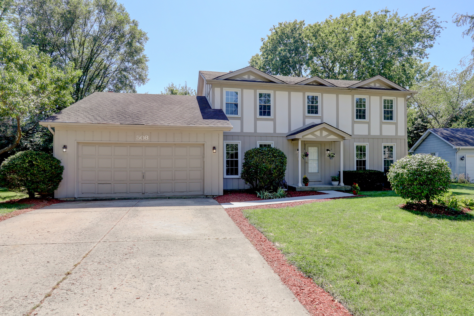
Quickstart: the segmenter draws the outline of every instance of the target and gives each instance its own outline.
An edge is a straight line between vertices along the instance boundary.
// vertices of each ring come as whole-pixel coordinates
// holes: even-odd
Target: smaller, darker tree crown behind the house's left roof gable
[[[280,22],[262,38],[261,54],[250,65],[274,75],[302,77],[308,63],[308,44],[304,39],[304,21]]]

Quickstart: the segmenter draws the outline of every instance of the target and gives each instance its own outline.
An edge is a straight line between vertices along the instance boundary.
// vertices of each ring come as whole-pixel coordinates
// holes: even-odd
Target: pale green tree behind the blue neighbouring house
[[[435,67],[427,80],[412,89],[419,93],[408,99],[409,107],[416,109],[415,116],[419,116],[428,128],[471,127],[474,124],[472,71],[444,72]]]

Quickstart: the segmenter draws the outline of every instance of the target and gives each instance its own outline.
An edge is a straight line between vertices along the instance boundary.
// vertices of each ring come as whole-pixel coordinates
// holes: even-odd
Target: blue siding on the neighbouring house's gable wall
[[[456,148],[453,148],[450,144],[447,144],[444,140],[439,138],[433,133],[429,135],[415,148],[413,153],[438,153],[438,157],[443,158],[448,162],[449,168],[451,168],[451,176],[455,177],[456,175]],[[459,156],[459,154],[458,154]],[[465,163],[464,171],[459,170],[462,167],[458,166],[458,173],[465,173]]]

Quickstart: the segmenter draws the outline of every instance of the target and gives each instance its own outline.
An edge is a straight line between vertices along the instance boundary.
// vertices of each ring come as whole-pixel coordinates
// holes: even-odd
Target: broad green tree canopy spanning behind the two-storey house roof
[[[306,27],[303,21],[280,23],[249,63],[276,75],[362,80],[381,74],[410,86],[426,71],[422,60],[443,28],[433,10],[412,16],[353,11]]]

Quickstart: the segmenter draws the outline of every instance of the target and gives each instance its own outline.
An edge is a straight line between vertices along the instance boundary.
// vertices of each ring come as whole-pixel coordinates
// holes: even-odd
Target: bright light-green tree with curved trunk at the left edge
[[[16,127],[15,135],[10,136],[14,141],[0,149],[2,154],[19,144],[26,120],[72,102],[72,85],[81,72],[72,63],[63,70],[51,66],[51,58],[39,53],[36,46],[24,49],[4,23],[0,23],[0,48],[0,117]]]

